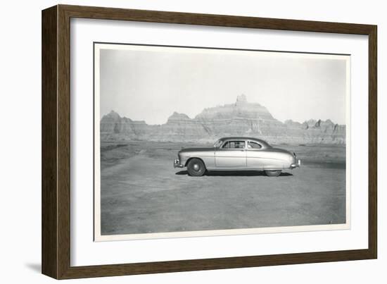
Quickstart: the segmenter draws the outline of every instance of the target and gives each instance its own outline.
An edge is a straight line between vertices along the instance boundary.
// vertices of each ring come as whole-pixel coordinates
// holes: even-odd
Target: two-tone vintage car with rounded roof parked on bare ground
[[[205,171],[265,171],[278,176],[282,170],[297,168],[295,153],[274,148],[264,140],[250,137],[224,137],[210,148],[186,148],[177,154],[175,168],[187,168],[191,176]]]

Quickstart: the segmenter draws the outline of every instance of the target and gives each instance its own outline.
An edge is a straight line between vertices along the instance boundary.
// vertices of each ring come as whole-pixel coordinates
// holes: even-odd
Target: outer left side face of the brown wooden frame
[[[57,7],[42,11],[42,273],[58,278]]]

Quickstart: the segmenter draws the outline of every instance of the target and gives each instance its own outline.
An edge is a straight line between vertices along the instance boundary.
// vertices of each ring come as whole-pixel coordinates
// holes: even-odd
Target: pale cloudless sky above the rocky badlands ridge
[[[349,56],[268,51],[100,45],[101,117],[163,124],[174,111],[194,118],[239,94],[279,121],[345,124]],[[348,68],[349,69],[349,68]],[[97,75],[98,76],[98,75]]]

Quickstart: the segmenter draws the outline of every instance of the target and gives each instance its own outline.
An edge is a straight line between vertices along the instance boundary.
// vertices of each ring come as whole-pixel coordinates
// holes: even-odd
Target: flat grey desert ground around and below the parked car
[[[345,146],[274,145],[296,152],[301,168],[200,178],[173,168],[179,149],[194,146],[102,142],[101,234],[345,223]]]

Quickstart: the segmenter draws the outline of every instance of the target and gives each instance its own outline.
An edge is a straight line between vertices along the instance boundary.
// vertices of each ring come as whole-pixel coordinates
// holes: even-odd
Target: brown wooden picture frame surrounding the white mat
[[[135,264],[70,266],[70,18],[368,35],[368,248]],[[376,25],[57,5],[42,11],[42,273],[56,279],[122,276],[377,256]]]

